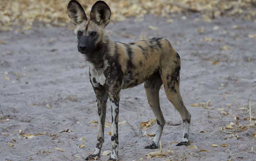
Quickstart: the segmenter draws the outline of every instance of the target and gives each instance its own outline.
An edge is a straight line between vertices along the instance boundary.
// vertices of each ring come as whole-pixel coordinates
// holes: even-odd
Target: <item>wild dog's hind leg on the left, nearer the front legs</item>
[[[157,149],[160,137],[162,135],[163,127],[165,124],[163,113],[159,104],[159,89],[163,84],[159,73],[154,73],[145,82],[144,87],[147,95],[147,100],[151,110],[156,116],[156,136],[151,145],[146,146],[146,149]]]

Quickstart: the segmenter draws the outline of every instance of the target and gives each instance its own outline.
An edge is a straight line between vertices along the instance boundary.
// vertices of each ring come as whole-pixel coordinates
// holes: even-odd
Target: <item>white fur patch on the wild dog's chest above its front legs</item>
[[[106,77],[104,75],[104,69],[96,69],[92,64],[90,64],[90,79],[95,85],[105,84]]]

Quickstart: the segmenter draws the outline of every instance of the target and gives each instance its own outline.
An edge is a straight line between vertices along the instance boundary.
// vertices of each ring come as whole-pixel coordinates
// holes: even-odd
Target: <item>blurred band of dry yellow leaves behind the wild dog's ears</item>
[[[1,0],[0,31],[28,30],[31,26],[66,26],[69,0]],[[79,0],[87,16],[95,0]],[[256,17],[256,0],[105,0],[112,15],[111,21],[126,17],[143,17],[145,14],[168,17],[182,12],[201,12],[204,19],[218,16],[253,20]],[[143,21],[143,19],[140,19]],[[20,26],[17,29],[17,26]]]

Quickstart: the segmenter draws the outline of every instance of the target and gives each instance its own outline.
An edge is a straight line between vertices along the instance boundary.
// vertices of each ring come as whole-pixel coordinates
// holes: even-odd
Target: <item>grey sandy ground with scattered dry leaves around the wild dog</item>
[[[194,21],[195,18],[201,21]],[[256,42],[248,37],[256,34],[255,22],[223,17],[206,22],[200,14],[175,16],[173,23],[152,15],[144,19],[115,22],[106,30],[114,41],[132,42],[143,33],[147,38],[164,37],[172,42],[181,57],[181,94],[192,115],[190,145],[198,149],[172,143],[181,140],[183,124],[178,113],[174,118],[173,106],[160,89],[160,105],[166,119],[161,142],[163,152],[170,142],[173,154],[147,159],[146,154],[158,149],[144,149],[152,140],[139,134],[136,127],[139,122],[154,118],[141,84],[120,94],[119,121],[126,119],[139,134],[136,136],[127,123],[119,126],[120,160],[256,160],[256,128],[249,126],[248,120],[250,97],[252,121],[256,114]],[[149,25],[158,29],[151,30]],[[94,150],[97,128],[90,122],[97,120],[96,98],[89,82],[88,63],[77,51],[72,28],[70,24],[0,33],[0,40],[8,41],[0,44],[0,103],[6,116],[0,121],[0,160],[84,160]],[[206,108],[190,106],[206,104],[209,99],[209,106],[203,106]],[[137,113],[141,113],[141,120]],[[234,120],[235,116],[239,119]],[[3,121],[7,118],[9,121]],[[106,121],[111,122],[110,102]],[[238,125],[225,129],[230,122]],[[25,139],[19,130],[46,135]],[[142,133],[155,130],[156,125],[152,125],[142,129]],[[111,126],[105,128],[102,152],[111,149],[108,131]],[[82,137],[85,147],[79,148]],[[221,147],[223,143],[227,147]],[[100,158],[107,159],[109,156]]]

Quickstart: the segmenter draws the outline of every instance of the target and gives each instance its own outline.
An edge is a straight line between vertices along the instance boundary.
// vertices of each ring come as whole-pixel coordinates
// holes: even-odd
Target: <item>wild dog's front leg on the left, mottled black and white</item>
[[[93,84],[93,83],[92,83]],[[95,85],[95,84],[93,84]],[[103,86],[94,87],[94,92],[97,97],[96,110],[98,115],[98,124],[97,124],[97,144],[91,155],[89,155],[85,160],[95,159],[95,157],[100,157],[100,150],[102,148],[102,144],[104,142],[104,126],[105,126],[105,118],[106,118],[106,106],[108,94],[105,92]]]

